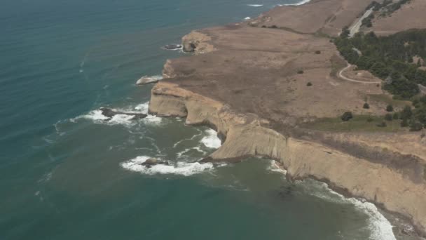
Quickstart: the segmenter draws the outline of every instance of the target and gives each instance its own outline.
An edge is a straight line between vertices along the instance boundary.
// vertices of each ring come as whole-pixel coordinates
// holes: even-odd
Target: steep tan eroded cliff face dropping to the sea
[[[186,117],[186,124],[206,124],[226,136],[212,161],[268,156],[280,161],[289,178],[316,178],[331,187],[380,204],[410,218],[426,233],[426,178],[413,181],[404,172],[353,156],[322,142],[284,136],[254,114],[238,114],[221,102],[181,88],[171,81],[153,87],[149,112]],[[420,164],[420,166],[423,166]]]

